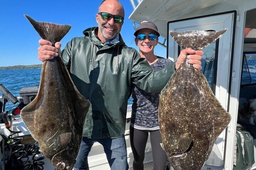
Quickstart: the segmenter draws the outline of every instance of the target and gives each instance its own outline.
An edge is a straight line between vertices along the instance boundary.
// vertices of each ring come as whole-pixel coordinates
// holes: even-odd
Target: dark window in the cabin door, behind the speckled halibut
[[[207,30],[207,31],[214,31],[214,30]],[[202,56],[202,70],[201,72],[207,79],[207,82],[212,89],[213,93],[215,94],[215,86],[216,86],[216,76],[217,76],[217,63],[218,63],[218,49],[219,49],[219,39],[215,42],[211,43],[209,46],[203,49],[203,56]],[[182,48],[179,46],[178,51]]]

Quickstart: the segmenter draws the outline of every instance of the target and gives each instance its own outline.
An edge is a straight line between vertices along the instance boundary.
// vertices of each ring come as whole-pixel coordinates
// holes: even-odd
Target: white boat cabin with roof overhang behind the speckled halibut
[[[238,108],[256,98],[256,1],[137,0],[135,2],[130,0],[130,2],[134,8],[129,17],[133,20],[133,26],[136,27],[136,23],[144,20],[154,22],[163,37],[160,45],[166,47],[166,57],[173,61],[177,60],[182,49],[171,38],[169,31],[218,31],[228,28],[216,42],[203,49],[201,71],[221,105],[232,116],[226,130],[217,138],[213,152],[203,169],[230,170],[235,166],[234,156],[237,156],[237,164],[239,163],[239,153],[236,153],[239,143],[236,138],[237,123],[241,123],[254,137],[251,140],[254,145],[252,144],[249,149],[251,153],[248,153],[250,156],[247,156],[247,159],[253,160],[246,163],[246,158],[243,156],[245,162],[242,163],[248,164],[247,169],[256,169],[254,163],[256,108],[254,114],[251,114],[252,118],[254,116],[251,122],[242,119],[238,114]]]

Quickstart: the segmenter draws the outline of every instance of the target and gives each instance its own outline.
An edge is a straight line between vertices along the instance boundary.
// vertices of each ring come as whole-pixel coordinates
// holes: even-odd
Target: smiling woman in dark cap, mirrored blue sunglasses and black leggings
[[[140,57],[146,58],[152,70],[161,70],[172,61],[154,54],[158,43],[157,26],[143,21],[134,32],[135,43]],[[145,148],[150,133],[154,170],[164,170],[167,155],[160,146],[162,143],[158,124],[159,93],[147,93],[136,85],[132,86],[132,116],[130,119],[130,143],[133,151],[133,170],[143,170]]]

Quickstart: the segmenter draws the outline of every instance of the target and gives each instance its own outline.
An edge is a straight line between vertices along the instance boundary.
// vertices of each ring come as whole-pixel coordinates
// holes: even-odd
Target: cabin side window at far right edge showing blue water
[[[244,53],[241,86],[256,85],[256,52]]]

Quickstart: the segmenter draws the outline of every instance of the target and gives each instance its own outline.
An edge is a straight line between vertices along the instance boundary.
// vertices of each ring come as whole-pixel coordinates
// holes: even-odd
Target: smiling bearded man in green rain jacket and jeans
[[[187,54],[191,54],[189,63],[201,69],[203,52],[186,49],[177,62],[153,72],[147,61],[123,42],[119,34],[123,17],[118,0],[104,0],[96,14],[98,27],[86,29],[84,37],[73,38],[60,55],[78,91],[91,102],[74,169],[89,169],[87,157],[94,142],[103,145],[111,169],[128,169],[124,131],[131,84],[160,92]],[[46,40],[39,43],[41,61],[58,56],[59,42],[56,48]]]

